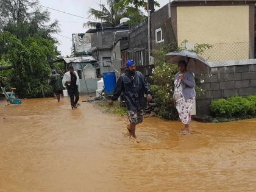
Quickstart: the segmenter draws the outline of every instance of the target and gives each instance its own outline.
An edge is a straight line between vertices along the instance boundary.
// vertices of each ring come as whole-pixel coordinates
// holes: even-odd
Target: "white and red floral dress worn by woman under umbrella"
[[[174,81],[174,99],[176,101],[176,108],[179,114],[179,118],[183,124],[189,124],[191,121],[192,106],[195,98],[185,100],[182,94],[181,80],[179,79],[183,73],[179,74]]]

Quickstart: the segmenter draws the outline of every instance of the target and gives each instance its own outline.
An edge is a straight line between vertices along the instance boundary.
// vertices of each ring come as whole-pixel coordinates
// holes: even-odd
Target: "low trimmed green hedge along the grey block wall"
[[[255,116],[256,95],[233,96],[228,99],[219,99],[210,104],[210,114],[215,118],[244,119]]]

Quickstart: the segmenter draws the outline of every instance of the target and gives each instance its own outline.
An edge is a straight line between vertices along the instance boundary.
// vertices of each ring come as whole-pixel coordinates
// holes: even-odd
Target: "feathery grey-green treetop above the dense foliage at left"
[[[0,0],[0,31],[9,31],[23,40],[43,37],[56,41],[51,34],[59,32],[58,21],[48,24],[49,12],[41,10],[37,0]]]

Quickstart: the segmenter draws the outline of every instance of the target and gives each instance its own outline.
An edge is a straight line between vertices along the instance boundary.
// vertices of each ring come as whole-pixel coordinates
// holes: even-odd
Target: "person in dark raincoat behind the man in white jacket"
[[[60,96],[63,96],[62,77],[55,69],[52,69],[50,85],[52,85],[52,91],[56,94],[57,101],[60,102]]]

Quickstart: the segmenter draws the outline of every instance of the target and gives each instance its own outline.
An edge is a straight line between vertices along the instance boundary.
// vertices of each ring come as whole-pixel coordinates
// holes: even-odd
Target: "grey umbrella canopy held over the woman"
[[[187,50],[169,52],[165,55],[168,63],[178,64],[180,61],[188,63],[187,70],[194,74],[209,74],[210,65],[208,62],[194,52]]]

